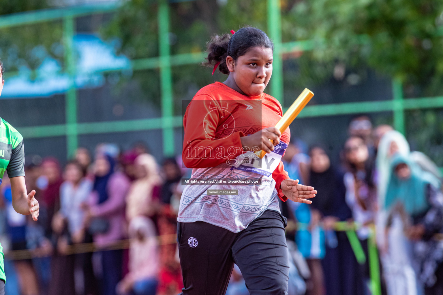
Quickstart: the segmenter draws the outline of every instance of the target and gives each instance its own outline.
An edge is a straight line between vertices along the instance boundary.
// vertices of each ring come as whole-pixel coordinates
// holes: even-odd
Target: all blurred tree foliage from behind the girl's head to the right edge
[[[283,41],[314,40],[314,50],[287,56],[295,71],[285,80],[296,87],[342,79],[342,73],[365,77],[375,69],[398,77],[409,96],[442,94],[443,1],[441,0],[280,0]],[[266,0],[197,0],[170,4],[171,53],[200,52],[210,35],[244,25],[267,31]],[[120,51],[130,58],[158,55],[156,0],[129,0],[103,30],[118,37]],[[189,75],[175,67],[174,80],[199,88],[213,79],[207,70]],[[291,69],[290,69],[291,70]],[[219,75],[218,78],[221,78]],[[146,92],[153,89],[145,73],[135,73]],[[175,87],[181,96],[187,88]],[[152,99],[159,93],[150,93]],[[157,101],[158,102],[158,101]]]

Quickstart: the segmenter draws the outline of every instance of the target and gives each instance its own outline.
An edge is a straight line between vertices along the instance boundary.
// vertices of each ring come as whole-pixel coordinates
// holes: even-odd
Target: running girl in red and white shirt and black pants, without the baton
[[[234,263],[251,295],[287,294],[286,218],[277,196],[311,203],[317,192],[290,179],[280,161],[289,128],[273,127],[282,107],[263,93],[273,43],[253,27],[231,33],[215,36],[207,57],[228,78],[200,89],[183,118],[183,163],[199,182],[184,189],[177,219],[181,294],[224,295]],[[252,153],[260,149],[263,159]]]

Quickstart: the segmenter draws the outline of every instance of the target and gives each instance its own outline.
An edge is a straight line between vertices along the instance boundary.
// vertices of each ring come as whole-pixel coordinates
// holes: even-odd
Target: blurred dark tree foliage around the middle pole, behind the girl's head
[[[120,52],[131,59],[158,56],[158,5],[155,0],[130,0],[113,21],[103,28],[105,38],[119,38]],[[267,31],[265,0],[197,0],[169,4],[171,54],[202,52],[213,34],[236,31],[245,25]],[[150,100],[160,104],[159,70],[135,71],[132,78]],[[191,99],[195,92],[225,75],[201,65],[172,68],[175,114],[181,112],[181,100]],[[121,89],[124,89],[123,87]]]

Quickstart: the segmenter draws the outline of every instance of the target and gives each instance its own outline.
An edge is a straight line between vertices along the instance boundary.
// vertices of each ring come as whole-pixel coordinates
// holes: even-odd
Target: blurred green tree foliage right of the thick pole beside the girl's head
[[[317,44],[304,54],[303,73],[327,76],[310,71],[313,63],[329,75],[336,66],[369,67],[400,78],[408,95],[443,94],[443,1],[303,0],[287,16],[292,39]]]

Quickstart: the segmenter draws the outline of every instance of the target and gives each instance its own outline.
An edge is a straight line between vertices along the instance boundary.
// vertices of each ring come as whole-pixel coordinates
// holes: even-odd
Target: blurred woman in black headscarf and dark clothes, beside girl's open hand
[[[320,146],[311,148],[311,172],[309,185],[318,194],[312,200],[311,211],[320,215],[325,230],[325,257],[322,260],[325,273],[326,295],[354,295],[361,290],[356,270],[357,261],[346,233],[335,232],[334,224],[352,218],[346,205],[346,187],[343,174],[334,169],[325,149]]]

